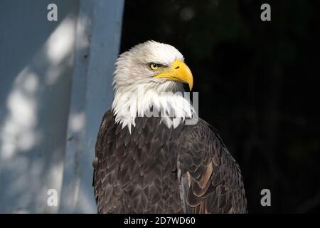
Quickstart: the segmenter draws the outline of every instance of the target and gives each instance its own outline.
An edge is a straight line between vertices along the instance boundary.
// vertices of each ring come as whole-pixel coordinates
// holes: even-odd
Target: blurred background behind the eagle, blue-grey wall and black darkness
[[[318,1],[55,1],[57,22],[50,1],[32,2],[0,4],[0,212],[95,212],[91,160],[113,64],[150,39],[186,58],[249,212],[320,212]],[[264,3],[272,21],[260,20]],[[50,188],[58,207],[46,205]]]

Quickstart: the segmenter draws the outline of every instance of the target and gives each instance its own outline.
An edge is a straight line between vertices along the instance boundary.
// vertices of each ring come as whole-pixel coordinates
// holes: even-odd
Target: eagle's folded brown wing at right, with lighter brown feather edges
[[[181,204],[186,213],[247,213],[238,163],[204,120],[190,126],[178,153]]]

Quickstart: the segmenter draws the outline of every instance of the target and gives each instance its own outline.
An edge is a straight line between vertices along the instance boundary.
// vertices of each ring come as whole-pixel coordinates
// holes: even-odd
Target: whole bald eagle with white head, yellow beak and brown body
[[[95,145],[98,213],[246,213],[240,168],[218,132],[181,95],[193,76],[173,46],[122,53],[114,101]],[[158,113],[159,115],[154,115]]]

